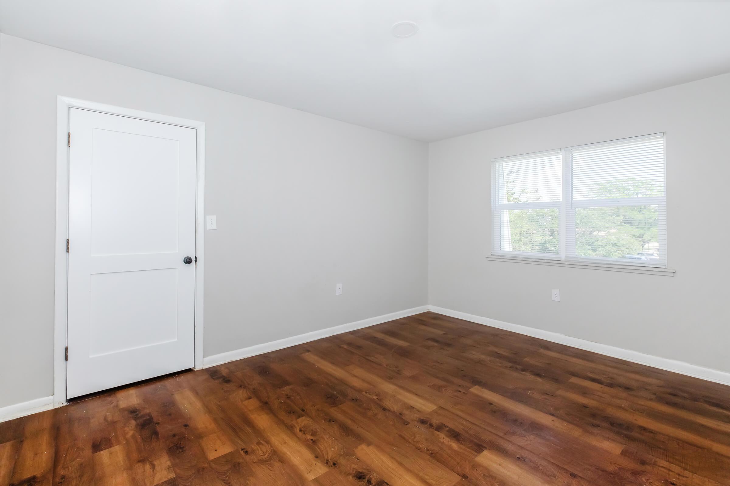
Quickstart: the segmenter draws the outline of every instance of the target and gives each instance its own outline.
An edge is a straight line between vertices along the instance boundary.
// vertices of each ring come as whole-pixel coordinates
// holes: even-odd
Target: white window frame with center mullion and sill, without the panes
[[[573,193],[573,161],[572,152],[575,149],[583,149],[590,146],[611,144],[612,142],[624,142],[641,140],[643,138],[656,138],[661,136],[664,144],[664,195],[647,197],[615,197],[602,199],[574,199]],[[499,203],[499,165],[510,160],[535,157],[541,154],[561,154],[561,200],[529,203]],[[513,155],[510,157],[498,157],[491,160],[491,213],[492,213],[492,235],[491,251],[487,258],[496,261],[510,261],[537,264],[553,264],[565,267],[596,268],[597,270],[618,270],[632,273],[655,273],[659,275],[674,275],[675,270],[668,266],[668,254],[666,237],[666,132],[652,133],[648,135],[618,138],[610,141],[596,142],[564,147],[561,149],[532,152],[529,154]],[[599,256],[577,256],[575,254],[575,210],[577,208],[616,208],[621,206],[653,206],[656,205],[659,211],[658,217],[658,244],[664,248],[664,260],[658,263],[644,262],[637,263],[633,259],[616,259]],[[543,209],[558,208],[558,254],[542,254],[530,252],[518,252],[502,250],[502,215],[501,211],[508,209]],[[572,232],[572,238],[568,238]]]

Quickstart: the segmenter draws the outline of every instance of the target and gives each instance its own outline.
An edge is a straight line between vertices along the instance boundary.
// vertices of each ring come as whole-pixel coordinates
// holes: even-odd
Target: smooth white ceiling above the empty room
[[[730,71],[723,1],[0,0],[0,31],[423,141]]]

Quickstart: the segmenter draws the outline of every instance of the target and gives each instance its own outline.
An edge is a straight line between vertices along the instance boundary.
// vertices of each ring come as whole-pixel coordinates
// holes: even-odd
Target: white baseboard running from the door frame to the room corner
[[[269,353],[270,351],[275,351],[277,349],[289,348],[290,346],[296,346],[304,342],[334,336],[334,334],[342,334],[343,332],[354,331],[355,329],[362,329],[364,327],[374,326],[375,324],[382,324],[383,322],[393,321],[409,315],[420,314],[426,312],[426,310],[429,310],[429,306],[422,305],[420,307],[413,307],[412,309],[399,310],[398,312],[390,314],[378,315],[377,317],[363,319],[362,321],[350,322],[349,324],[328,327],[327,329],[320,329],[319,331],[307,332],[307,334],[285,337],[283,340],[264,342],[264,344],[257,344],[249,346],[248,348],[228,351],[227,353],[214,354],[213,356],[203,358],[203,367],[213,367],[216,364],[228,363],[228,361],[248,358],[249,356],[256,356],[257,354]]]

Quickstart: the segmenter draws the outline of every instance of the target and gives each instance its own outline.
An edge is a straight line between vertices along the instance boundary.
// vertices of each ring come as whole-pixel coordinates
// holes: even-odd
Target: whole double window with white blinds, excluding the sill
[[[492,161],[493,256],[666,267],[664,133]]]

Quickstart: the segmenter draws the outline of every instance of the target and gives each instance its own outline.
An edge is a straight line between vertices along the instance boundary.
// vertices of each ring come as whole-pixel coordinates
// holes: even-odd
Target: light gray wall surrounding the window
[[[491,159],[662,131],[674,277],[485,259]],[[729,134],[726,74],[430,144],[429,303],[730,372]]]

